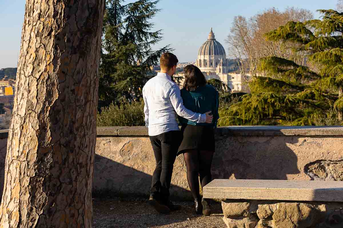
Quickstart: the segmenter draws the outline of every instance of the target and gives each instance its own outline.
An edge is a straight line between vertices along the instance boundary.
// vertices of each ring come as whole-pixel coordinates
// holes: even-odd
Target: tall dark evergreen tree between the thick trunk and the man
[[[139,0],[122,4],[109,0],[106,4],[99,81],[99,108],[120,100],[136,100],[142,88],[154,76],[152,68],[165,46],[157,51],[152,46],[162,39],[161,30],[151,31],[149,21],[160,10],[158,1]]]

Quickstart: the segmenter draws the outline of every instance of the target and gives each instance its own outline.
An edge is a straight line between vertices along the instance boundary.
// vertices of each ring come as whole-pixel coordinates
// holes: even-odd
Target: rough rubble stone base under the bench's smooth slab
[[[343,227],[343,203],[225,200],[222,207],[228,228]]]

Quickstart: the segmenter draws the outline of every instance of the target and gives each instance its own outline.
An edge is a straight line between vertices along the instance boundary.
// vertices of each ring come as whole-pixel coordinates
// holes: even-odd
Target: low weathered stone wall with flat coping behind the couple
[[[0,192],[8,132],[0,132]],[[343,127],[225,127],[216,131],[213,178],[342,180]],[[95,196],[148,195],[155,158],[145,127],[97,128]],[[191,199],[182,156],[173,198]]]

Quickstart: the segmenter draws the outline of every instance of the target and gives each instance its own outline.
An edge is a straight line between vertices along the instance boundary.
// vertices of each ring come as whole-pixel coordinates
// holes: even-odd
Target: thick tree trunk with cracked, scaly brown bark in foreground
[[[0,227],[92,227],[105,0],[26,0]]]

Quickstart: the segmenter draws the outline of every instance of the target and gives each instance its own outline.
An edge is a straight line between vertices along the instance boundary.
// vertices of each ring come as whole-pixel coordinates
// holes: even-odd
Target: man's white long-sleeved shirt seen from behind
[[[145,125],[149,135],[178,131],[177,115],[197,123],[206,122],[206,114],[185,108],[179,86],[166,73],[157,73],[143,87]]]

